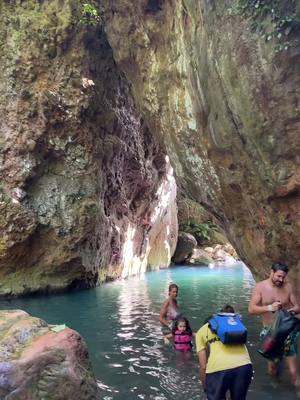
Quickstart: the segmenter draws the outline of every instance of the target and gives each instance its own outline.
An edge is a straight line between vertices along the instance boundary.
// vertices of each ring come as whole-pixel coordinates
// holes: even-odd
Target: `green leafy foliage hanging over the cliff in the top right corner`
[[[229,8],[230,15],[249,18],[250,29],[266,42],[274,41],[276,51],[292,45],[291,34],[300,30],[298,0],[238,0]]]

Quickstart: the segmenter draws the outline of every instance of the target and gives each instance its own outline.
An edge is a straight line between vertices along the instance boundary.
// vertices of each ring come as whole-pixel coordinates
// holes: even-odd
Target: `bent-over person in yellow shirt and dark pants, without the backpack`
[[[221,312],[234,313],[234,309],[226,305]],[[227,391],[232,400],[245,400],[253,375],[247,347],[223,344],[206,323],[196,334],[196,350],[207,400],[223,400]]]

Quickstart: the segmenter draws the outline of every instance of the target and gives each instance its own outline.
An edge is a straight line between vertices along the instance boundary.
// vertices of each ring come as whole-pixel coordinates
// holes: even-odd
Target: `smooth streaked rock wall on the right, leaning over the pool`
[[[256,275],[299,279],[299,5],[252,3],[107,0],[105,29],[186,195]]]

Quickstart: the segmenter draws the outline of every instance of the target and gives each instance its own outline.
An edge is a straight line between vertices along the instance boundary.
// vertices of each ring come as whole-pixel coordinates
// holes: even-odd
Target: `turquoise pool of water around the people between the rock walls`
[[[266,362],[256,352],[258,317],[248,316],[254,286],[241,263],[226,267],[176,267],[65,295],[1,300],[2,309],[21,308],[51,324],[66,323],[85,338],[104,400],[204,400],[195,353],[182,359],[163,345],[159,310],[169,283],[179,285],[180,310],[197,330],[225,303],[243,315],[255,368],[249,400],[296,399],[287,371],[272,386]]]

